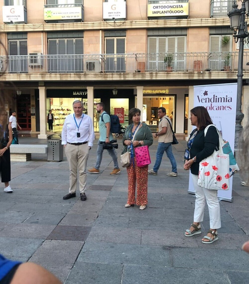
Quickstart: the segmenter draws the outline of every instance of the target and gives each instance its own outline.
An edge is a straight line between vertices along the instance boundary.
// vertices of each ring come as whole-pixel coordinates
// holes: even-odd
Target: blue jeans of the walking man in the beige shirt
[[[171,144],[172,144],[172,142],[170,142],[170,143],[158,142],[157,151],[156,151],[156,162],[155,162],[154,167],[153,167],[154,172],[158,171],[160,164],[162,162],[162,156],[163,156],[164,151],[165,151],[167,157],[170,159],[170,162],[171,162],[171,165],[172,165],[172,172],[177,173],[176,161],[175,161],[175,157],[172,153]]]

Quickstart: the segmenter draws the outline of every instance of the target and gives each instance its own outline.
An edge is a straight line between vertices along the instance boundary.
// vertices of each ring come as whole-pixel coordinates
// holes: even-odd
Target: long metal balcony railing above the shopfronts
[[[145,73],[237,70],[238,52],[172,53],[166,66],[165,53],[22,55],[0,56],[0,72],[9,73]],[[249,71],[249,52],[243,69]],[[166,68],[167,67],[167,68]]]

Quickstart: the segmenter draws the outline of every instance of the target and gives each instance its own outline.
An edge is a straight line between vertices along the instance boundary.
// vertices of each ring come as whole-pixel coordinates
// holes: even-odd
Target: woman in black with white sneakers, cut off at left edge
[[[0,174],[1,182],[4,182],[4,192],[12,193],[13,190],[9,185],[11,180],[11,156],[10,145],[12,143],[12,128],[8,124],[7,111],[0,109]]]

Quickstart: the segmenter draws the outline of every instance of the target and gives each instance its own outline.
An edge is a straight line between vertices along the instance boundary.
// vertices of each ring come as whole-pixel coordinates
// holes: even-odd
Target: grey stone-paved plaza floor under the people
[[[195,198],[187,193],[189,172],[183,170],[186,142],[173,146],[177,177],[166,173],[163,157],[157,176],[148,177],[148,206],[124,208],[127,172],[111,176],[113,162],[104,151],[100,174],[87,173],[87,201],[63,200],[69,169],[32,154],[28,162],[11,163],[12,194],[0,191],[0,252],[13,260],[31,261],[66,284],[249,283],[249,254],[241,250],[249,239],[249,188],[233,179],[233,203],[220,202],[219,240],[203,244],[209,229],[206,208],[202,234],[185,237],[194,214]],[[20,137],[22,144],[47,144]],[[118,156],[122,148],[118,140]],[[157,140],[150,147],[152,165]],[[87,169],[95,164],[97,140]],[[149,167],[149,168],[151,168]],[[1,184],[2,185],[2,184]]]

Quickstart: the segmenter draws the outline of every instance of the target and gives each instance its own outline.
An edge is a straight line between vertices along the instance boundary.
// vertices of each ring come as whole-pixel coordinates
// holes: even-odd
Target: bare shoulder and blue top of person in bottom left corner
[[[12,261],[0,254],[1,284],[62,284],[52,273],[32,262]]]

